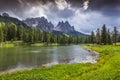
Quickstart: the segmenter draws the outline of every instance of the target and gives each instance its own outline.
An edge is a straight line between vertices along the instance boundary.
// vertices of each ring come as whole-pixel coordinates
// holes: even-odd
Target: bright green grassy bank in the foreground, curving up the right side
[[[61,64],[3,74],[0,80],[120,80],[120,46],[85,46],[100,53],[98,63]]]

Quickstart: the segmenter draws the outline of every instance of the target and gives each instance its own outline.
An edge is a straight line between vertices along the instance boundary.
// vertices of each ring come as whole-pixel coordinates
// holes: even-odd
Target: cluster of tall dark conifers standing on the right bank
[[[113,31],[110,31],[107,29],[106,25],[104,24],[102,29],[99,28],[96,30],[96,32],[92,31],[91,35],[91,43],[95,44],[115,44],[120,41],[120,35],[118,34],[117,27],[114,27]]]

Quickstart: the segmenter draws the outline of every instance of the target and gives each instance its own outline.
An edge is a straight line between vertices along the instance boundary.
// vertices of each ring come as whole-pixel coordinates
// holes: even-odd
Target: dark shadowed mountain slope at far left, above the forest
[[[23,25],[25,28],[28,28],[28,26],[25,23],[23,23],[17,18],[10,17],[7,13],[3,13],[2,15],[0,15],[0,22],[14,23],[17,26]]]

